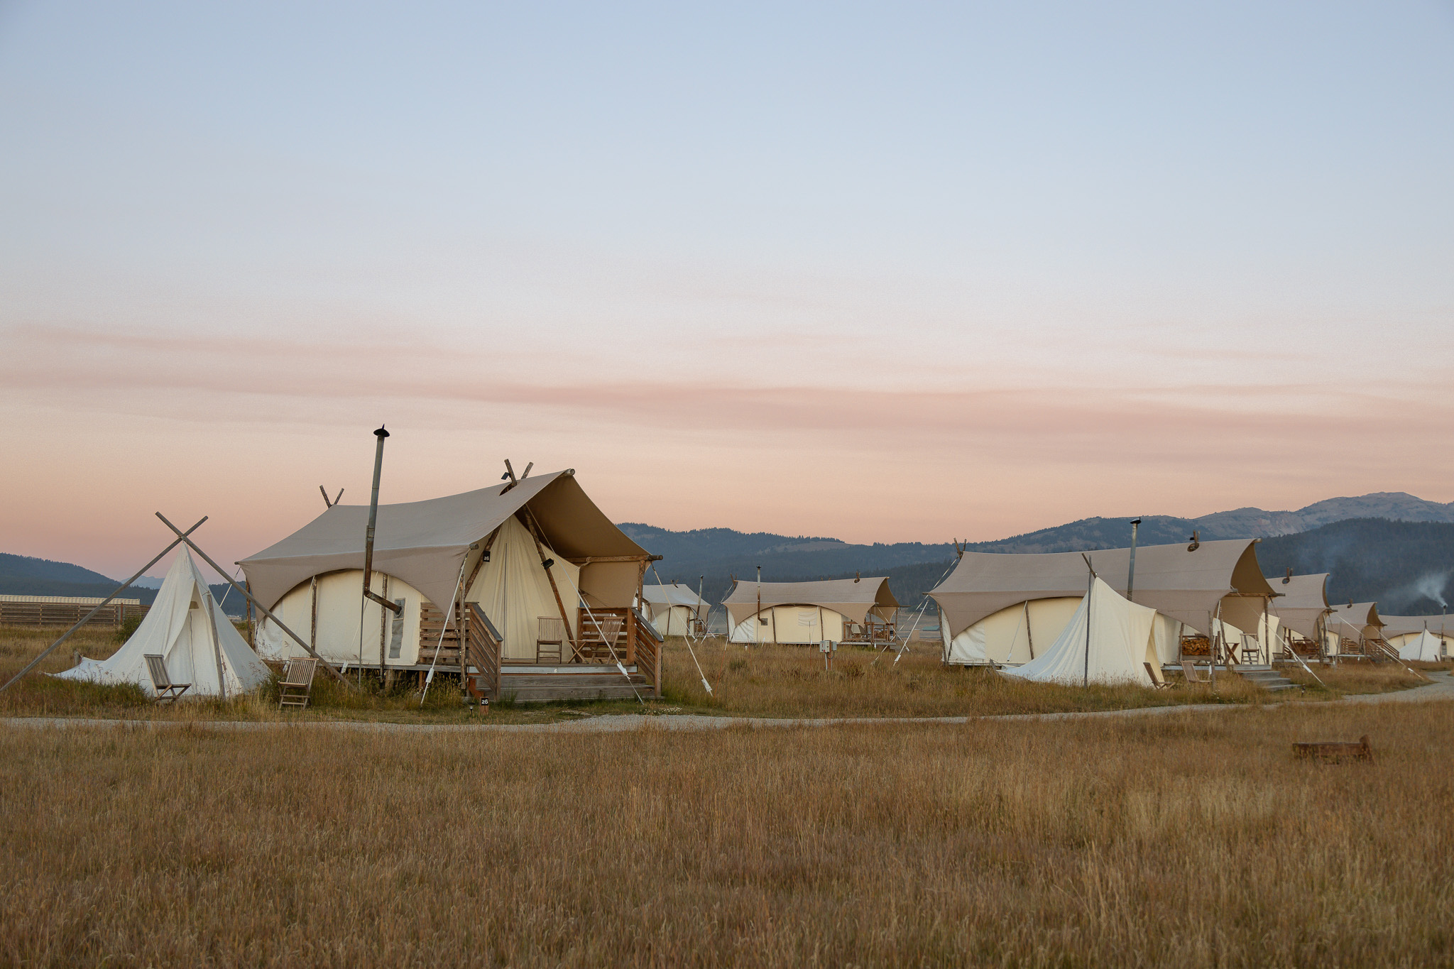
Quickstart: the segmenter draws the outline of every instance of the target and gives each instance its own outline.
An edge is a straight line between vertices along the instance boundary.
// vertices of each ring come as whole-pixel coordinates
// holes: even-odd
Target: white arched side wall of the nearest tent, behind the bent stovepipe
[[[390,575],[388,600],[404,600],[404,612],[388,616],[388,623],[382,628],[384,658],[391,665],[411,665],[419,661],[419,606],[425,601],[423,593]],[[364,569],[345,569],[318,577],[318,639],[313,648],[327,662],[333,665],[359,665],[359,603],[364,600]],[[385,575],[374,572],[369,587],[374,593],[384,596]],[[273,607],[289,629],[308,638],[313,629],[313,581],[295,585]],[[384,607],[369,600],[364,604],[364,665],[378,665],[379,644],[379,613]],[[398,655],[394,655],[394,632],[398,632]],[[307,651],[294,642],[292,636],[278,629],[266,617],[257,623],[253,636],[257,644],[257,654],[268,660],[288,660],[289,657],[305,657]]]

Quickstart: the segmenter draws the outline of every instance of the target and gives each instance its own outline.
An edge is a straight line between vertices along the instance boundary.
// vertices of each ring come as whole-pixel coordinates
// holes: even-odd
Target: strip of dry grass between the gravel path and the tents
[[[54,641],[54,631],[0,628],[0,677],[9,678]],[[73,664],[71,645],[92,658],[105,658],[119,648],[109,631],[83,631],[47,658],[42,670],[58,673]],[[1179,703],[1281,703],[1329,700],[1345,693],[1377,693],[1419,686],[1394,664],[1317,667],[1326,684],[1319,686],[1301,670],[1288,673],[1306,693],[1269,694],[1237,677],[1220,677],[1216,692],[1204,686],[1149,690],[1134,686],[1063,687],[1008,680],[989,670],[944,667],[938,652],[916,645],[897,664],[894,654],[842,648],[833,670],[813,648],[753,646],[743,649],[721,641],[695,649],[712,693],[696,676],[696,667],[682,639],[667,642],[663,665],[663,700],[643,708],[635,700],[548,706],[496,705],[491,722],[550,722],[574,712],[596,715],[670,709],[675,712],[736,716],[983,716],[1005,713],[1059,713],[1070,710],[1115,710]],[[441,678],[420,709],[417,692],[406,684],[393,694],[368,689],[352,692],[318,674],[313,705],[307,712],[278,710],[276,694],[259,694],[230,702],[190,700],[176,708],[153,708],[141,690],[26,677],[0,693],[0,716],[95,716],[166,721],[193,719],[371,719],[423,723],[464,723],[478,719],[461,700],[458,687]]]

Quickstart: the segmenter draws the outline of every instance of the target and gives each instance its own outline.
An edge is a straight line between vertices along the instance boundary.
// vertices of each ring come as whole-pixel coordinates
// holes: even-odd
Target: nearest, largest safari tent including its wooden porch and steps
[[[574,471],[381,504],[371,588],[397,612],[362,594],[368,511],[334,504],[240,562],[257,600],[323,660],[420,678],[454,673],[486,694],[513,687],[522,699],[550,699],[541,677],[553,674],[612,686],[602,696],[660,693],[659,636],[634,607],[653,556]],[[266,619],[254,642],[266,658],[301,652]]]

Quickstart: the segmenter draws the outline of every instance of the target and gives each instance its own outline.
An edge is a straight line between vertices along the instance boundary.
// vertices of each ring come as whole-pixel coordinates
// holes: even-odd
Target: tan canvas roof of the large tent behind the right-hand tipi
[[[1134,599],[1143,606],[1205,631],[1208,613],[1216,613],[1223,597],[1272,596],[1258,568],[1252,539],[1201,542],[1195,551],[1186,545],[1147,545],[1136,549]],[[948,622],[948,635],[957,636],[1000,609],[1034,599],[1085,596],[1086,562],[1118,594],[1125,594],[1130,549],[1095,552],[1048,552],[1009,555],[965,552],[960,564],[929,596]],[[1261,613],[1261,601],[1258,613]],[[1250,626],[1246,616],[1224,616],[1234,626]]]

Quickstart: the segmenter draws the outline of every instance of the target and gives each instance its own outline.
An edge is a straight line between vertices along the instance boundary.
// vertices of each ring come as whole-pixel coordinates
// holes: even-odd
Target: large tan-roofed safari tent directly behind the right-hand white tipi
[[[939,607],[945,662],[1034,661],[1080,609],[1089,569],[1125,597],[1130,561],[1130,549],[965,552],[929,593]],[[1163,664],[1213,655],[1218,662],[1265,662],[1271,597],[1250,539],[1136,551],[1130,600],[1156,610],[1152,635]]]

